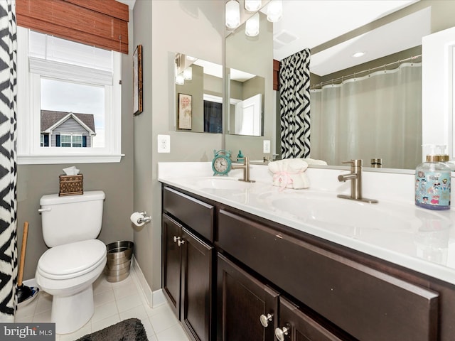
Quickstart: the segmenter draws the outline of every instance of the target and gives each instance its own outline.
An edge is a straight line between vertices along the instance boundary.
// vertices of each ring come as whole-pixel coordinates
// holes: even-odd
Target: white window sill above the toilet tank
[[[117,163],[124,154],[117,155],[18,155],[18,165],[50,165],[58,163]]]

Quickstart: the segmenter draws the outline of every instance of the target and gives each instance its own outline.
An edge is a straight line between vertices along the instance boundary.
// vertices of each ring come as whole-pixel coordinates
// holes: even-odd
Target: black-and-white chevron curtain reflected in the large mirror
[[[281,61],[282,158],[310,155],[310,50],[301,50]]]

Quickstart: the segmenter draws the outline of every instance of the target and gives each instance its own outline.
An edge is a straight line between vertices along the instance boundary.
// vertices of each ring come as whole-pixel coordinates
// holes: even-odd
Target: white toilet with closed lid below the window
[[[36,282],[53,296],[51,322],[55,332],[75,332],[92,318],[92,283],[102,274],[106,245],[101,231],[105,193],[43,195],[40,200],[43,238],[50,248],[38,261]]]

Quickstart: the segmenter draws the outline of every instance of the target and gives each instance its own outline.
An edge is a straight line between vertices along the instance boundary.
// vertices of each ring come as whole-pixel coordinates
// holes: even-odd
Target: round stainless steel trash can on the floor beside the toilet
[[[128,241],[107,244],[105,275],[108,282],[123,281],[129,276],[134,243]]]

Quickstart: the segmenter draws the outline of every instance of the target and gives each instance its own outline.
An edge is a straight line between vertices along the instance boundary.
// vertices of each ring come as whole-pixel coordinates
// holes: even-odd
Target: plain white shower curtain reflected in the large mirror
[[[382,158],[383,168],[414,169],[422,159],[421,63],[311,90],[311,158],[364,166]]]

